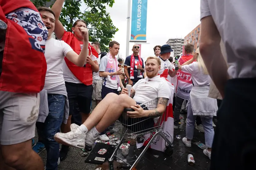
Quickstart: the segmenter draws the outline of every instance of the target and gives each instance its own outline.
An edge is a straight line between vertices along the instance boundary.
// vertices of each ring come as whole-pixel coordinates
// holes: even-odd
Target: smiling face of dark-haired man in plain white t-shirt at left
[[[46,26],[47,30],[48,30],[48,37],[50,37],[50,35],[53,33],[54,31],[54,27],[55,27],[55,17],[52,13],[48,12],[48,11],[40,11],[42,20],[44,25]]]

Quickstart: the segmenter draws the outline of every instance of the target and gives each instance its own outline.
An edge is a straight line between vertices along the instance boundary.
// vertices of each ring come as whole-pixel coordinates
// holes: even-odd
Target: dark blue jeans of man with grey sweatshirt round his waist
[[[45,122],[38,129],[38,136],[43,137],[43,144],[47,151],[46,170],[58,170],[60,144],[54,140],[55,133],[60,132],[64,116],[65,96],[48,94],[49,114]]]

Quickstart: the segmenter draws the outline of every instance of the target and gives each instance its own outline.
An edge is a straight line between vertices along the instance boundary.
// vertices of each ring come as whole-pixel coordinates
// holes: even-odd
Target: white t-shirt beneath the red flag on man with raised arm
[[[80,44],[81,48],[83,48],[83,45]],[[97,57],[95,55],[91,55],[91,59],[92,61],[96,61],[97,60]],[[67,66],[65,60],[63,62],[63,76],[64,76],[64,80],[66,82],[69,82],[69,83],[76,83],[76,84],[79,84],[79,83],[82,83],[80,80],[78,80],[76,78],[76,76],[70,71],[69,67]]]

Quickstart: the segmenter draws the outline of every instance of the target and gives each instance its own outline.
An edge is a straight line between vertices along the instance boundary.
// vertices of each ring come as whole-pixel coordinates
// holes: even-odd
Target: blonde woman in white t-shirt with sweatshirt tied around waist
[[[208,149],[203,153],[211,159],[211,149],[213,143],[213,116],[217,112],[217,100],[208,97],[211,78],[202,60],[199,48],[196,55],[185,62],[180,69],[191,74],[193,87],[190,92],[190,99],[187,104],[187,124],[186,137],[182,139],[187,147],[191,147],[191,140],[194,135],[194,125],[197,116],[202,118],[202,125],[205,131],[205,144]],[[196,61],[195,61],[196,60]],[[195,61],[195,62],[193,62]]]

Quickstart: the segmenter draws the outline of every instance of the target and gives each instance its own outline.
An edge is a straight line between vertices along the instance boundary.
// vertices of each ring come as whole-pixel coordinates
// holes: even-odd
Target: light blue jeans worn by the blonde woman
[[[193,139],[194,135],[194,128],[195,128],[195,119],[196,115],[193,115],[191,102],[187,104],[187,124],[186,124],[186,138]],[[205,145],[207,147],[212,147],[213,144],[213,118],[211,117],[201,117],[202,118],[202,125],[204,128],[204,137],[205,137]]]

